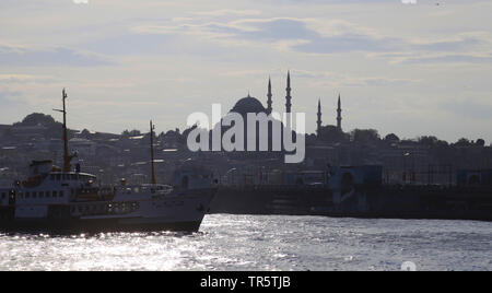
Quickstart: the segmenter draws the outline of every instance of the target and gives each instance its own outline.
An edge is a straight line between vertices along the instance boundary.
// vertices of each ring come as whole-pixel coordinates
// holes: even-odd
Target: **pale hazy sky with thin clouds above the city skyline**
[[[1,0],[0,124],[58,120],[120,133],[186,127],[241,97],[316,128],[492,142],[492,1]]]

